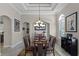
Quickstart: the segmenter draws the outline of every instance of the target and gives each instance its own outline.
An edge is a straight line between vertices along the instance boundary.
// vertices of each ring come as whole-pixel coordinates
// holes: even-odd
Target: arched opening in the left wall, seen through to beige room
[[[12,39],[12,29],[11,29],[11,19],[8,16],[2,15],[0,16],[1,20],[3,21],[3,29],[2,29],[2,46],[3,47],[10,47],[11,46],[11,39]]]

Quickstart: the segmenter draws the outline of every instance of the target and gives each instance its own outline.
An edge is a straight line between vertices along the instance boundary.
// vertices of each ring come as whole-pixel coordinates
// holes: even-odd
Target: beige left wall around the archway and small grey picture
[[[18,12],[16,12],[11,6],[9,6],[8,4],[0,4],[0,16],[8,16],[11,19],[11,33],[12,33],[12,38],[11,38],[11,46],[15,46],[17,45],[17,43],[19,41],[22,41],[22,22],[21,22],[21,28],[20,28],[20,32],[14,32],[14,18],[22,21],[20,14]],[[7,46],[7,45],[5,45]]]

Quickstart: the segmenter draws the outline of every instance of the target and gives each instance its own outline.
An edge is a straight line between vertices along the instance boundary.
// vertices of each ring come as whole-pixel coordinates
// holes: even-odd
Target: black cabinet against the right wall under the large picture
[[[78,39],[75,37],[61,37],[61,47],[67,51],[71,56],[78,55]]]

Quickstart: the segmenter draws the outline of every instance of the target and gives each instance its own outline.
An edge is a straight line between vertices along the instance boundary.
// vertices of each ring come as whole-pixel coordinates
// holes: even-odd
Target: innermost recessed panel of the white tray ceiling
[[[55,8],[56,3],[24,3],[24,6],[27,10],[31,11],[39,11],[39,7],[41,11],[52,11]]]

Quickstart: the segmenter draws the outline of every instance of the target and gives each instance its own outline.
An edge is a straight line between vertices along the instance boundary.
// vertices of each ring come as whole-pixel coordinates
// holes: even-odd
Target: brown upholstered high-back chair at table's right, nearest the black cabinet
[[[50,36],[49,45],[48,45],[47,51],[53,52],[54,56],[55,56],[55,43],[56,43],[56,37]]]

